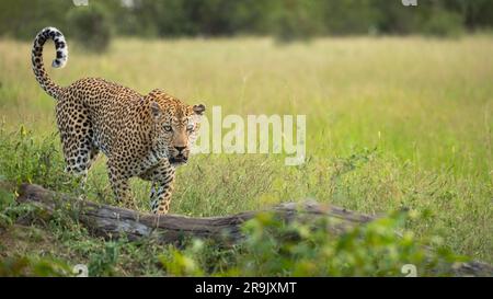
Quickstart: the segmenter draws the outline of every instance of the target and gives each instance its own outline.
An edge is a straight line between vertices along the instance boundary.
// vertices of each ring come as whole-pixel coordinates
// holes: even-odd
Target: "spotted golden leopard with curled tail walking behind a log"
[[[56,27],[45,27],[34,39],[32,68],[41,88],[56,101],[65,171],[85,186],[88,171],[103,153],[118,204],[135,208],[129,180],[139,177],[151,182],[150,211],[167,215],[176,169],[188,161],[205,105],[185,104],[162,89],[141,94],[102,78],[60,87],[44,67],[43,48],[49,39],[56,50],[51,67],[66,66],[65,35]]]

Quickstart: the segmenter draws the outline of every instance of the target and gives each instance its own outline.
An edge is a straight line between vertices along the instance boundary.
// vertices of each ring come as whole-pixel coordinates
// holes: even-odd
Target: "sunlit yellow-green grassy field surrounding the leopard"
[[[226,215],[303,198],[369,214],[405,207],[429,216],[410,223],[416,235],[439,235],[457,253],[493,262],[491,36],[284,46],[256,38],[118,39],[104,55],[68,42],[68,66],[50,70],[61,85],[103,77],[141,93],[162,88],[188,103],[220,105],[223,114],[307,115],[305,164],[286,166],[280,154],[196,156],[179,170],[171,212]],[[51,55],[47,48],[45,60]],[[30,64],[30,44],[0,41],[4,134],[22,125],[35,142],[59,150],[55,102]],[[137,205],[148,209],[149,184],[133,184]],[[104,158],[90,173],[88,196],[113,200]]]

